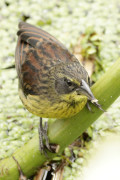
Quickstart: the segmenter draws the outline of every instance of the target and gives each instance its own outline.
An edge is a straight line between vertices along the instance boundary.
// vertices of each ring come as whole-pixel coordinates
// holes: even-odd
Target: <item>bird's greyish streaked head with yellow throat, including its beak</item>
[[[92,103],[98,100],[90,89],[90,78],[85,68],[78,62],[60,64],[54,69],[55,90],[65,100],[80,101],[86,98]]]

